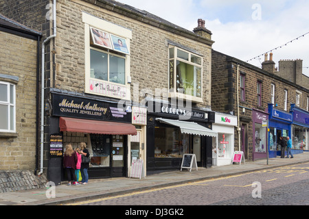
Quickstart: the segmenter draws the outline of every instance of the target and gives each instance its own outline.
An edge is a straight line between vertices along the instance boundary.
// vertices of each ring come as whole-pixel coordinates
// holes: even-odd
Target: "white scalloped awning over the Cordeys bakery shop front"
[[[181,129],[181,133],[187,133],[196,136],[210,136],[217,137],[218,133],[216,131],[212,131],[211,129],[207,129],[197,123],[193,122],[185,122],[180,120],[171,120],[165,118],[156,118],[160,123],[165,123],[168,125],[173,125],[179,127]]]

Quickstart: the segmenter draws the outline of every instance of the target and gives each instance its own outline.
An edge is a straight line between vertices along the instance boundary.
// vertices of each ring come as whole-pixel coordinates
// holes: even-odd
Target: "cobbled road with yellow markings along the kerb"
[[[101,198],[74,205],[309,205],[309,163]]]

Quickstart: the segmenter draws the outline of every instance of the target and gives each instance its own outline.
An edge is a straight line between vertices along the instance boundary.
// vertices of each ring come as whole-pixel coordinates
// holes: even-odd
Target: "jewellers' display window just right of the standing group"
[[[91,168],[109,167],[111,157],[111,136],[91,134],[89,153]]]

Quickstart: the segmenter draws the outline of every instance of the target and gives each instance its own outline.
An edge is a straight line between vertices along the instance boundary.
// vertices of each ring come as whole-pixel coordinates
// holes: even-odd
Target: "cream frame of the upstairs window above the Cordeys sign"
[[[173,51],[173,56],[171,57],[171,51]],[[187,53],[188,57],[187,60],[179,57],[178,51],[183,53]],[[201,64],[192,62],[192,56],[198,57],[201,59]],[[195,66],[197,68],[201,68],[201,96],[192,96],[190,94],[185,94],[177,91],[176,85],[176,77],[177,77],[177,61],[183,62],[185,64],[189,64],[191,66]],[[197,85],[197,77],[194,81],[194,87]],[[197,92],[197,89],[193,91],[194,93]],[[198,55],[192,51],[187,51],[185,49],[181,49],[175,45],[169,45],[168,47],[168,97],[179,97],[181,99],[189,99],[193,102],[203,103],[203,57]]]

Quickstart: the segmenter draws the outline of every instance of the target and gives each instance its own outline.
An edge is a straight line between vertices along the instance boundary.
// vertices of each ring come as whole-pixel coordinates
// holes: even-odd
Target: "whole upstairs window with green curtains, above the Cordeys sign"
[[[169,51],[170,92],[192,96],[192,100],[202,99],[203,58],[177,47]]]

